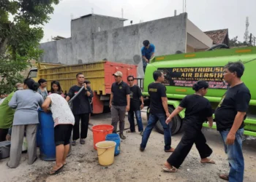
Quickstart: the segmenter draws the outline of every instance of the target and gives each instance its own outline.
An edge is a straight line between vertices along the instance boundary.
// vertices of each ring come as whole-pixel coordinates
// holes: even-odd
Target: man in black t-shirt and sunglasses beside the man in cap
[[[138,85],[133,84],[134,79],[135,78],[133,76],[127,77],[127,81],[129,82],[129,90],[131,91],[129,94],[129,98],[131,99],[131,101],[130,101],[130,108],[128,112],[129,129],[130,129],[130,132],[135,132],[135,118],[134,118],[134,114],[135,114],[140,135],[143,135],[143,124],[142,124],[140,109],[143,108],[144,102],[143,102],[143,96],[142,96],[140,87],[138,87]]]

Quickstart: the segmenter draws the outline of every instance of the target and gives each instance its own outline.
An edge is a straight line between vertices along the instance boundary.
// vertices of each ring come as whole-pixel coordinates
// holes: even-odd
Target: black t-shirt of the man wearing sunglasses
[[[138,85],[133,85],[132,87],[129,87],[129,90],[131,91],[129,94],[129,97],[131,98],[130,103],[130,111],[139,111],[140,110],[140,97],[142,96],[140,87]]]

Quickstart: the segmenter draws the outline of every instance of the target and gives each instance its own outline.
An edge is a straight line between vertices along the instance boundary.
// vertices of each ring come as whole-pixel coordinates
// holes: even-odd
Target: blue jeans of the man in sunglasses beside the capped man
[[[140,110],[128,112],[129,129],[131,130],[131,132],[135,132],[135,117],[137,119],[139,132],[143,132],[143,124],[142,124]]]

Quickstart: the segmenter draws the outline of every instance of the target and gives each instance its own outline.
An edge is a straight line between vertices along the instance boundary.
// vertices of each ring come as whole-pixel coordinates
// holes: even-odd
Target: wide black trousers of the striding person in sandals
[[[187,157],[187,154],[189,154],[189,151],[192,149],[194,143],[201,159],[211,155],[212,150],[206,144],[206,138],[203,135],[203,132],[199,129],[195,129],[194,127],[185,125],[184,135],[173,154],[171,154],[167,159],[167,162],[176,168],[180,167],[182,162],[184,162],[184,159]]]

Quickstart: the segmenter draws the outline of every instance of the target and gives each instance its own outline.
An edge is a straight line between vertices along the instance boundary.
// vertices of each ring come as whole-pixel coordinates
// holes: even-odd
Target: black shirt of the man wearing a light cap
[[[127,95],[129,95],[129,85],[125,82],[113,83],[111,87],[113,92],[113,106],[127,106]]]

